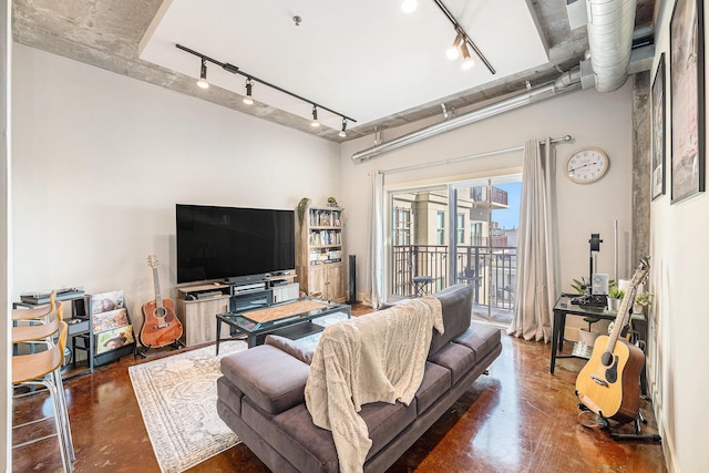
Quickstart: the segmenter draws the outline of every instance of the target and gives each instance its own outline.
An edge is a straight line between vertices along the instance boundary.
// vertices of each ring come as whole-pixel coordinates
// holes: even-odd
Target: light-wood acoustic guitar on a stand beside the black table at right
[[[634,421],[638,415],[645,353],[620,337],[620,332],[630,320],[637,287],[649,269],[649,258],[645,257],[620,302],[610,335],[596,339],[590,359],[576,378],[576,395],[580,402],[599,417],[621,423]]]

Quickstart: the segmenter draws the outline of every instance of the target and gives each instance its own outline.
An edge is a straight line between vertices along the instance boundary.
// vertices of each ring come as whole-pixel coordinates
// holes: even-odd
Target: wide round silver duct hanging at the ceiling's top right
[[[599,92],[620,89],[628,78],[636,0],[586,0],[588,50]]]

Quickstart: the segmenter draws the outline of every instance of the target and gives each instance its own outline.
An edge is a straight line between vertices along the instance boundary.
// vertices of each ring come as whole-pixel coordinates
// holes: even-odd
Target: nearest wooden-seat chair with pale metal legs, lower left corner
[[[64,387],[61,374],[69,326],[63,320],[58,320],[56,323],[59,326],[59,338],[56,343],[53,341],[47,341],[47,339],[38,339],[35,340],[37,342],[43,341],[48,345],[45,351],[12,357],[12,385],[44,385],[47,388],[54,403],[55,435],[59,441],[59,451],[62,455],[62,465],[65,472],[71,472],[73,471],[72,462],[76,460],[76,456],[74,454],[74,445],[71,438],[69,412],[66,409],[66,400],[64,399]],[[14,425],[13,428],[22,425]],[[45,438],[34,439],[13,445],[12,448],[21,448],[43,439]]]

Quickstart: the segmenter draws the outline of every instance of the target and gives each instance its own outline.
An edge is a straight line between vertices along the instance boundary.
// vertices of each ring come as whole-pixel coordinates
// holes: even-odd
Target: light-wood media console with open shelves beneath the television
[[[177,318],[186,347],[216,341],[216,315],[267,307],[298,298],[296,271],[266,275],[248,284],[214,282],[177,288]]]

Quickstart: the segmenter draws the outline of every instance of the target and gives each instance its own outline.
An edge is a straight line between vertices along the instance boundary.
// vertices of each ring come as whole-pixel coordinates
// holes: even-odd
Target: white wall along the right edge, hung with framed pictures
[[[665,52],[668,126],[671,126],[669,18],[674,3],[662,1],[656,6],[656,56],[653,65],[654,78],[660,53]],[[708,19],[705,7],[705,31]],[[706,44],[706,34],[702,41]],[[706,61],[705,56],[705,64]],[[707,91],[705,96],[708,96]],[[655,409],[665,428],[666,456],[672,459],[670,467],[678,472],[698,472],[709,471],[709,451],[703,434],[709,419],[706,402],[709,399],[709,377],[701,368],[707,358],[703,343],[709,332],[708,310],[701,299],[709,281],[709,250],[703,239],[709,234],[709,196],[703,193],[679,204],[670,204],[670,130],[668,127],[666,133],[667,194],[653,202],[650,207],[650,284],[657,297],[651,310],[656,345],[648,363]],[[701,131],[705,143],[706,131]]]

